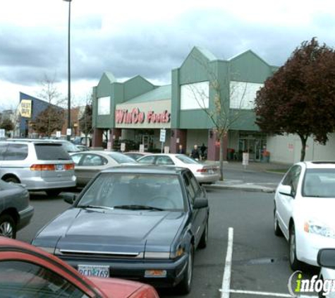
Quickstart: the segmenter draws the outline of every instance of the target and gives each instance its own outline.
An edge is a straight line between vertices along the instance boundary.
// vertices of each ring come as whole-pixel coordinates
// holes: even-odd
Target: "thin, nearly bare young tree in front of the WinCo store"
[[[218,74],[212,69],[207,61],[204,61],[200,56],[193,54],[193,58],[202,66],[209,78],[209,90],[212,90],[214,107],[209,107],[209,93],[205,93],[199,88],[188,85],[193,97],[197,101],[197,105],[207,114],[212,122],[212,130],[217,133],[219,139],[219,171],[220,180],[224,179],[224,138],[228,135],[233,124],[241,117],[248,118],[248,109],[243,109],[245,105],[245,92],[248,88],[248,83],[236,86],[232,85],[228,74],[225,78],[219,78]],[[231,97],[236,97],[238,106],[234,109],[230,107]]]

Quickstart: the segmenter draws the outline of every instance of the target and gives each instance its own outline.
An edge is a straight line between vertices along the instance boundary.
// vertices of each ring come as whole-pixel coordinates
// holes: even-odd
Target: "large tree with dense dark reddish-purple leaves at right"
[[[305,41],[257,93],[256,124],[266,133],[297,134],[303,161],[307,138],[325,144],[335,129],[334,90],[334,49]]]

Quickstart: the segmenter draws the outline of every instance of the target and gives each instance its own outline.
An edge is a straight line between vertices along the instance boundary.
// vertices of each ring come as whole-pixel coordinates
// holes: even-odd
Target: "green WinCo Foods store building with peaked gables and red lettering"
[[[219,140],[205,109],[216,109],[214,88],[219,86],[232,122],[224,137],[224,158],[238,160],[248,152],[250,160],[260,160],[267,136],[255,125],[253,102],[276,69],[252,51],[221,60],[194,47],[181,66],[171,71],[171,85],[153,85],[142,76],[121,83],[111,73],[103,73],[93,88],[93,146],[107,141],[118,149],[117,144],[123,142],[126,150],[138,150],[143,144],[154,152],[161,148],[160,129],[166,129],[164,145],[171,153],[176,153],[179,144],[187,153],[193,145],[205,144],[208,160],[218,160]]]

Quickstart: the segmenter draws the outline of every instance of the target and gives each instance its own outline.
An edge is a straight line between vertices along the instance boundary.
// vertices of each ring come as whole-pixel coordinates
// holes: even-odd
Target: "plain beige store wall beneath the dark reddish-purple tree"
[[[307,140],[305,160],[335,160],[335,133],[329,135],[326,145]],[[301,141],[299,136],[289,134],[284,136],[268,136],[267,150],[271,162],[293,164],[300,161]]]

